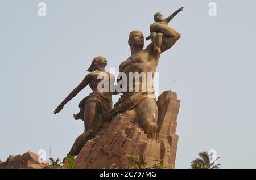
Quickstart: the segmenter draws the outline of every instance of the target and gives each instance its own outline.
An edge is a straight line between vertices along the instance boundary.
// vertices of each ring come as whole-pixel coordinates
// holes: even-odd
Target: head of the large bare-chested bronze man
[[[143,33],[138,30],[130,32],[128,44],[130,47],[143,48],[144,47]]]

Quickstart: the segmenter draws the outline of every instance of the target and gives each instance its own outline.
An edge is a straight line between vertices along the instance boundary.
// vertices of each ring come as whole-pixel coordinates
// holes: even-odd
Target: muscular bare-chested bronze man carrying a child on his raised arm
[[[183,10],[180,8],[178,11]],[[119,72],[125,73],[129,76],[129,72],[138,72],[139,74],[144,72],[151,72],[154,78],[156,67],[158,66],[160,54],[170,49],[181,37],[181,34],[174,28],[168,27],[166,24],[154,23],[150,25],[150,32],[162,33],[162,45],[160,50],[156,51],[154,45],[151,43],[144,47],[144,36],[141,31],[135,30],[130,32],[128,44],[131,49],[131,56],[119,66]],[[150,77],[147,76],[146,79]],[[127,81],[129,83],[129,81]],[[143,84],[141,79],[139,82],[134,82],[134,87],[139,83]],[[129,85],[126,85],[129,88]],[[130,89],[129,89],[130,90]],[[156,104],[156,98],[154,96],[154,89],[152,84],[148,85],[146,92],[123,92],[121,98],[114,105],[114,108],[110,110],[109,119],[118,113],[123,113],[126,110],[135,109],[137,112],[139,123],[144,132],[148,135],[149,140],[156,139],[157,120],[158,120],[158,106]]]

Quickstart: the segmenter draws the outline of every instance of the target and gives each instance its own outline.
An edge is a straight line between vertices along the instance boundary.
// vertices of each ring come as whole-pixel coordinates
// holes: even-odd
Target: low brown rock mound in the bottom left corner
[[[0,169],[42,169],[48,166],[33,152],[26,152],[23,155],[10,155],[6,162],[0,164]]]

